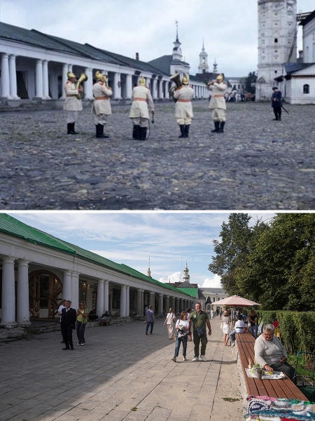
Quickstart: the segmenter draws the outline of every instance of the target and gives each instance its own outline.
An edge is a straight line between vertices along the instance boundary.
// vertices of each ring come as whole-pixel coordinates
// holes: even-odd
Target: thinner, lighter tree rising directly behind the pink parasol
[[[213,241],[216,256],[212,257],[209,271],[221,276],[221,284],[229,295],[239,293],[235,273],[246,265],[253,239],[266,227],[260,220],[254,227],[249,227],[250,220],[247,213],[232,213],[228,224],[222,224],[221,241]]]

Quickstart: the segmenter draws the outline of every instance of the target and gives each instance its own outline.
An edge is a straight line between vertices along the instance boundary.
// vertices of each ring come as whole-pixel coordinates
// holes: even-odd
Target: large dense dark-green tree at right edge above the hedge
[[[315,215],[277,214],[235,270],[240,293],[262,309],[315,309]]]

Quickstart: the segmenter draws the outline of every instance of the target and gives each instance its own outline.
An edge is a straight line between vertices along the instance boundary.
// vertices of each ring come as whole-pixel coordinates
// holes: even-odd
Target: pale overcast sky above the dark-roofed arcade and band
[[[257,0],[0,0],[0,20],[128,57],[138,52],[143,61],[172,54],[178,20],[190,74],[197,72],[204,39],[211,71],[216,59],[219,72],[246,76],[257,68],[257,4]],[[314,8],[314,0],[297,0],[297,11]]]

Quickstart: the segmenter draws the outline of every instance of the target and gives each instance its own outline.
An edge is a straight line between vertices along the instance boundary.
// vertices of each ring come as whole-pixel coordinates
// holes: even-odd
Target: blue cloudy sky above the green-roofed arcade
[[[203,212],[9,212],[13,218],[48,232],[162,282],[180,281],[188,262],[190,282],[220,288],[220,278],[208,270],[212,241],[220,239],[227,213]],[[268,220],[274,213],[248,213]]]

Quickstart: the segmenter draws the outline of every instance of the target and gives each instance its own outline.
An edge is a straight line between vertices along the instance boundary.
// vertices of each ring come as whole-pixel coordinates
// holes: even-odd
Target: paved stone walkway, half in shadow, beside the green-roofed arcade
[[[85,347],[63,351],[59,332],[0,341],[0,420],[241,420],[235,354],[215,317],[207,362],[174,363],[175,342],[157,321],[87,329]],[[73,335],[74,336],[74,335]],[[179,359],[180,360],[180,359]]]

